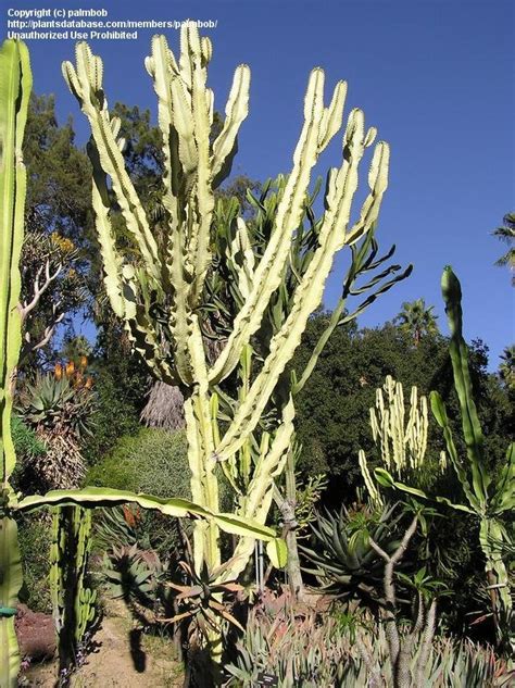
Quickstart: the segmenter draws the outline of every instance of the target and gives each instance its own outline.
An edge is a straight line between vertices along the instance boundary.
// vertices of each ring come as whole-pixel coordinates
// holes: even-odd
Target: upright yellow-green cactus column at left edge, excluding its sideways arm
[[[0,50],[0,687],[17,685],[20,654],[14,631],[22,564],[17,527],[10,517],[9,478],[16,456],[11,437],[12,393],[22,343],[18,262],[23,242],[26,172],[22,142],[32,88],[28,51],[7,40]]]

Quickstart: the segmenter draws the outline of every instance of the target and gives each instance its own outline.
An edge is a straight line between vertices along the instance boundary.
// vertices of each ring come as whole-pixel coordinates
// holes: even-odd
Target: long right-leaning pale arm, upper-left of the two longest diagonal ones
[[[339,84],[337,89],[341,93],[336,99],[341,121],[344,86]],[[322,143],[325,143],[326,133],[321,132],[325,112],[323,98],[324,73],[322,70],[314,70],[310,76],[304,101],[304,126],[293,154],[293,168],[277,209],[275,227],[265,253],[255,268],[252,291],[235,318],[227,345],[210,371],[210,380],[213,384],[219,383],[234,371],[243,346],[259,329],[272,293],[280,284],[291,236],[302,217],[311,171],[318,160]],[[334,117],[327,123],[328,127],[330,124],[330,130],[334,128],[332,121]]]

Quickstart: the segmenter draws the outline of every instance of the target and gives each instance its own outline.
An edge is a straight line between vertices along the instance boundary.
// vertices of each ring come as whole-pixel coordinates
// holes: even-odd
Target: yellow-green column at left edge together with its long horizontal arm
[[[158,509],[172,516],[190,515],[214,520],[216,528],[237,536],[272,541],[275,534],[260,523],[235,514],[212,514],[209,508],[181,499],[159,499],[122,490],[86,488],[55,490],[46,496],[21,498],[10,477],[16,456],[11,436],[11,414],[16,370],[22,343],[20,312],[20,257],[24,237],[26,172],[22,143],[32,88],[28,51],[24,43],[4,41],[0,50],[0,687],[17,685],[20,652],[14,630],[22,564],[14,515],[48,505],[109,506],[134,501],[145,509]],[[274,554],[278,546],[273,545]],[[72,599],[71,603],[75,600]]]

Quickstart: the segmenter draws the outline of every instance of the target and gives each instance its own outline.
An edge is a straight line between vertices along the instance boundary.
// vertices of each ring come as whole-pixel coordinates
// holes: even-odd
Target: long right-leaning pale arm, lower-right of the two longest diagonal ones
[[[221,459],[226,459],[237,451],[249,434],[254,430],[279,375],[300,343],[309,316],[322,300],[325,283],[331,271],[335,253],[341,242],[340,236],[344,236],[352,198],[357,188],[357,166],[363,157],[366,141],[362,113],[354,111],[349,121],[346,139],[349,161],[346,160],[338,173],[332,175],[334,183],[332,188],[329,189],[328,198],[329,208],[326,211],[318,237],[321,246],[296,290],[288,318],[272,339],[269,354],[263,368],[255,378],[246,400],[238,408],[221,445],[216,448],[216,453]],[[378,171],[372,177],[376,185],[373,192],[378,198],[382,198],[384,190],[386,190],[385,177],[388,171],[388,147],[385,143],[379,143],[376,150],[379,152],[374,154],[373,165],[377,165]],[[365,229],[369,229],[377,217],[379,203],[374,205],[376,214],[369,218],[369,224],[365,225]]]

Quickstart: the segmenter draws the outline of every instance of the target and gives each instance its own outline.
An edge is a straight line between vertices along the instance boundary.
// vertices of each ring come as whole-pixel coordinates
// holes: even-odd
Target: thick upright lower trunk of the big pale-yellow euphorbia
[[[191,318],[189,349],[196,384],[185,404],[187,422],[188,459],[191,470],[191,492],[193,501],[218,513],[218,480],[215,475],[216,462],[213,458],[214,436],[211,414],[208,370],[202,335],[197,315]],[[205,562],[210,570],[221,564],[219,530],[214,522],[197,523],[193,533],[193,561],[198,573]]]

